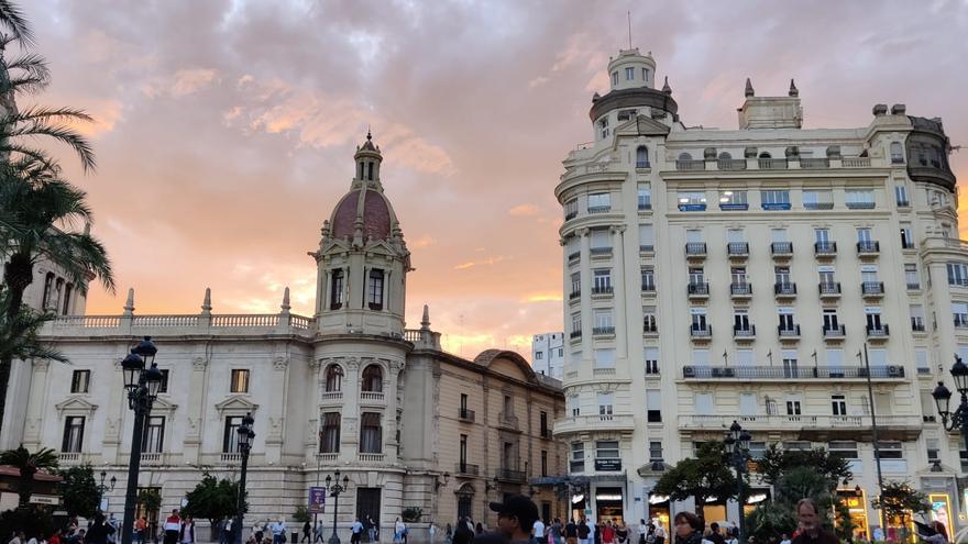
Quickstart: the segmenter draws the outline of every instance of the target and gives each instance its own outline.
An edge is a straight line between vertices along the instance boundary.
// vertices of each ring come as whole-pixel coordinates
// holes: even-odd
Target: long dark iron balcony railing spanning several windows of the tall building
[[[682,367],[684,379],[895,379],[904,377],[901,365],[872,366],[703,366]]]

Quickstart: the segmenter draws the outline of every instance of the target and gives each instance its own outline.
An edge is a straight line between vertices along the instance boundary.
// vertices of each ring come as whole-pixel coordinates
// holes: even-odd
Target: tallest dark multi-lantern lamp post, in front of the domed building
[[[121,544],[131,544],[134,532],[134,510],[138,508],[138,473],[141,470],[141,446],[144,419],[151,413],[152,403],[162,387],[162,373],[155,364],[158,348],[145,336],[121,362],[124,389],[128,390],[128,408],[134,411],[134,429],[131,432],[131,458],[128,462],[128,490],[124,495],[124,522],[121,525]]]

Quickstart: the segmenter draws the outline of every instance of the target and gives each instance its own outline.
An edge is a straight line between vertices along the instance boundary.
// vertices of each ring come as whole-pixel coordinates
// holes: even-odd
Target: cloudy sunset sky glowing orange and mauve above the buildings
[[[89,314],[311,315],[319,243],[367,125],[446,347],[530,356],[561,319],[561,160],[592,138],[609,55],[651,51],[688,125],[736,127],[796,79],[805,125],[866,126],[903,102],[968,144],[966,1],[30,0],[46,93],[88,110],[94,232],[118,293]],[[13,46],[8,56],[15,54]],[[58,149],[63,151],[63,149]],[[968,178],[968,148],[952,157]]]

